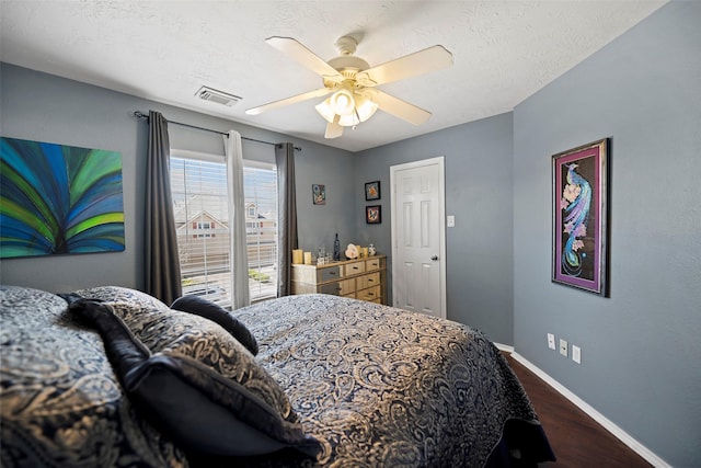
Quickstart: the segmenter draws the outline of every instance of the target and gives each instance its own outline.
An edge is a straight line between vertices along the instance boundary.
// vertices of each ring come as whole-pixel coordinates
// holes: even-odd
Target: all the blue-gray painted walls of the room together
[[[48,290],[141,286],[147,129],[135,110],[301,146],[306,250],[330,248],[338,232],[342,244],[375,242],[389,252],[389,167],[445,156],[447,214],[457,221],[446,230],[448,317],[514,343],[669,464],[701,466],[698,24],[701,3],[671,2],[514,113],[357,155],[2,65],[3,136],[122,152],[127,250],[4,260],[0,281]],[[550,282],[550,156],[604,137],[612,142],[608,299]],[[244,145],[244,153],[265,158],[258,146]],[[375,180],[382,183],[383,221],[368,226],[363,190]],[[326,185],[326,205],[312,206],[312,183]],[[579,345],[582,365],[548,350],[549,332]]]

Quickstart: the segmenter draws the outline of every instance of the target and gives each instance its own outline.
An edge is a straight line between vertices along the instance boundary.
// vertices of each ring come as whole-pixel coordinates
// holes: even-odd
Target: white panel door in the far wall
[[[393,306],[446,317],[443,158],[390,168]]]

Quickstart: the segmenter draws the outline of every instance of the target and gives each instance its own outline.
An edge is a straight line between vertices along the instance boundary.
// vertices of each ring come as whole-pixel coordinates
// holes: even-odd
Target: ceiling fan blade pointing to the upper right
[[[377,67],[360,71],[356,79],[365,87],[376,87],[452,66],[452,54],[444,46],[433,46]]]

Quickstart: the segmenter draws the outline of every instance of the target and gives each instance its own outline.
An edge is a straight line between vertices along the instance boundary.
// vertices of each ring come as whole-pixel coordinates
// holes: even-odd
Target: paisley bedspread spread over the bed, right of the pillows
[[[502,448],[552,457],[520,383],[474,329],[326,295],[285,297],[233,315],[256,336],[258,359],[323,447],[315,463],[252,465],[501,465],[490,455],[504,443],[508,421],[530,434]]]

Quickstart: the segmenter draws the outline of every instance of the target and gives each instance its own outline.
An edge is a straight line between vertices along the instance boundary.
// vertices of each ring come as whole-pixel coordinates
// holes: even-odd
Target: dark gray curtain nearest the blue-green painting
[[[168,121],[149,111],[146,163],[146,293],[170,305],[182,296],[170,179]]]

